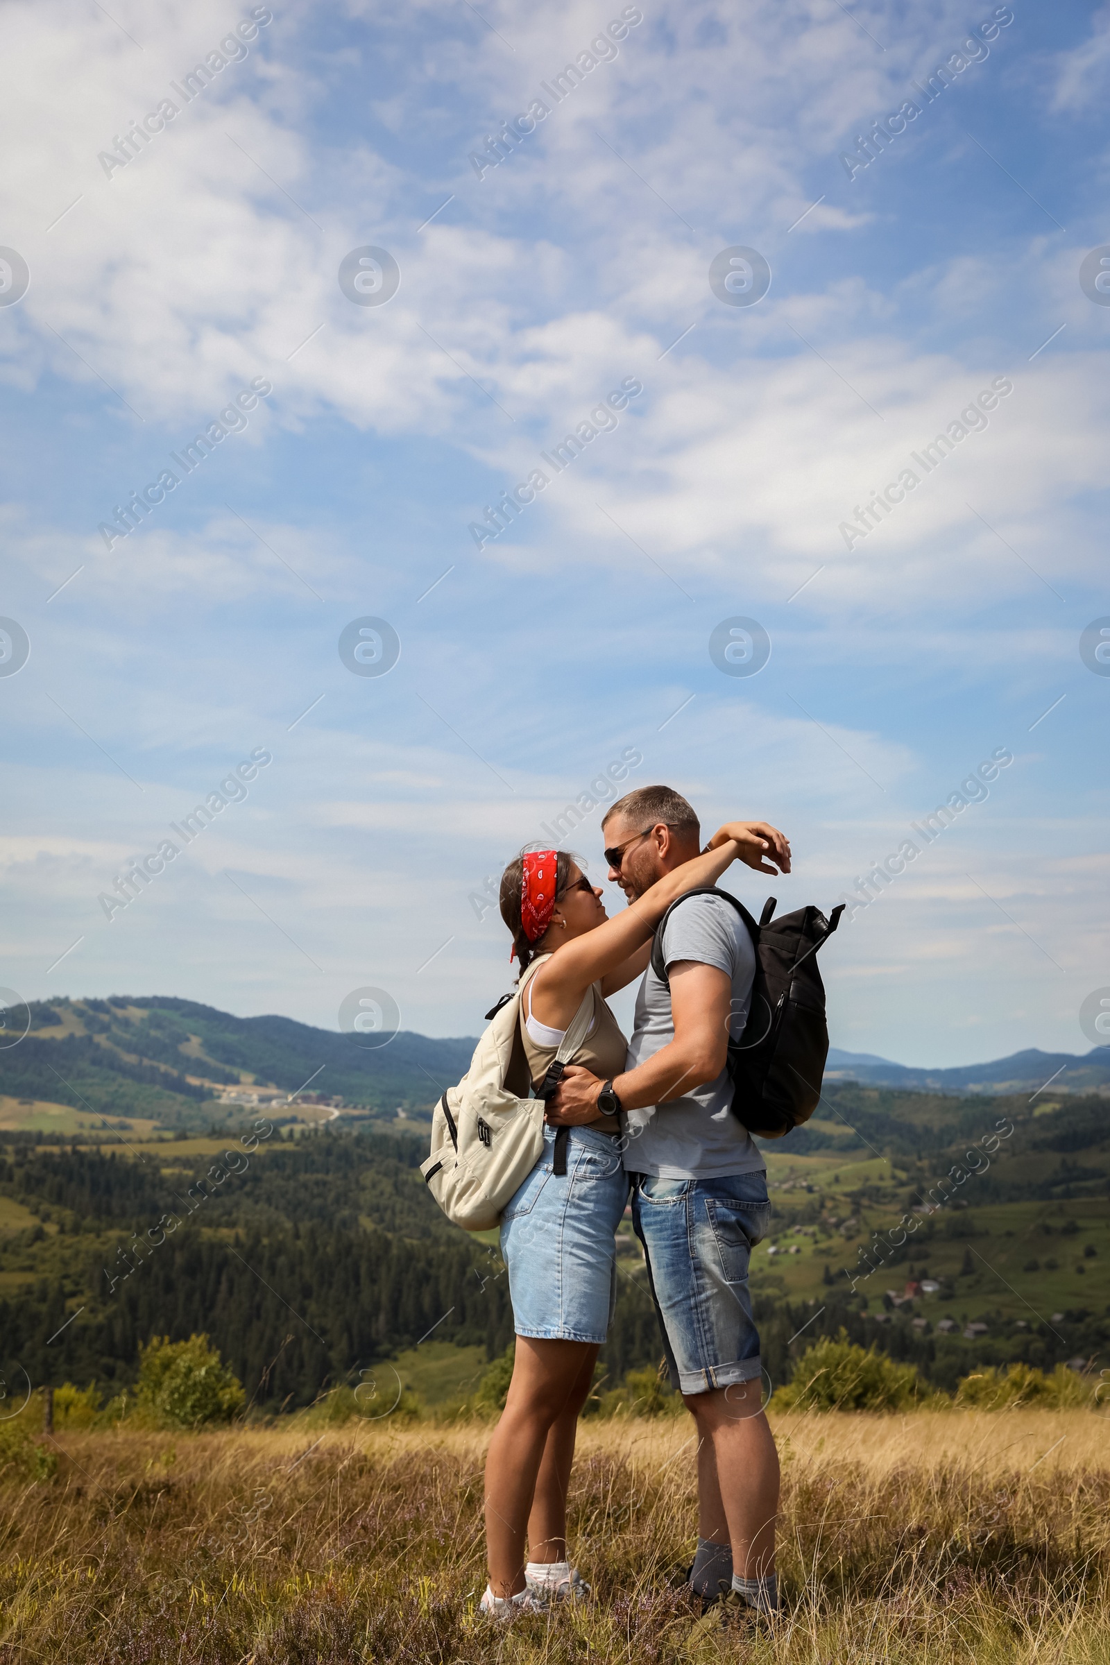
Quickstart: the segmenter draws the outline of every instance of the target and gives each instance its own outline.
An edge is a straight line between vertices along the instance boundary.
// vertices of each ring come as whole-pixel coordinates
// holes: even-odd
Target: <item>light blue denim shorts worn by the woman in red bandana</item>
[[[604,1342],[617,1292],[616,1230],[627,1174],[611,1134],[571,1127],[566,1174],[544,1154],[501,1215],[513,1327],[538,1340]]]

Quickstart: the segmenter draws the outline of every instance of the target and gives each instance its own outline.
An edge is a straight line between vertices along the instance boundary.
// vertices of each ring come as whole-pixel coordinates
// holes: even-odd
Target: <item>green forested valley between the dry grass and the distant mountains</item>
[[[439,1214],[418,1174],[424,1131],[233,1112],[205,1136],[0,1134],[10,1390],[25,1372],[116,1394],[151,1335],[208,1334],[271,1412],[429,1340],[439,1357],[443,1344],[504,1350],[496,1234]],[[774,1225],[751,1277],[769,1387],[840,1329],[949,1392],[977,1365],[1107,1362],[1105,1097],[830,1084],[819,1116],[766,1154]],[[627,1220],[617,1247],[609,1384],[661,1355]]]

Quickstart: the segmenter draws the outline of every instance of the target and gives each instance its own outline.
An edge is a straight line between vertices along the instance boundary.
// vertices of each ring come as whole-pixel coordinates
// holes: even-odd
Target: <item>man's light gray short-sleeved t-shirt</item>
[[[747,1022],[756,976],[752,937],[731,902],[719,896],[691,896],[671,914],[662,937],[667,969],[681,959],[717,966],[732,979],[732,1039]],[[626,1069],[636,1069],[674,1041],[671,991],[647,967],[636,996],[636,1027]],[[624,1167],[629,1174],[657,1179],[717,1179],[752,1174],[766,1167],[762,1152],[729,1109],[732,1084],[727,1069],[716,1081],[681,1099],[627,1111]]]

